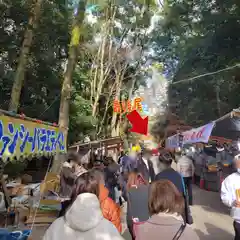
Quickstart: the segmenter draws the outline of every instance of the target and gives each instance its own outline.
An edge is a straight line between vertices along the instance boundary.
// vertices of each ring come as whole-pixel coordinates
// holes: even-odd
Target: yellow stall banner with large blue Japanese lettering
[[[0,116],[0,158],[27,158],[66,151],[60,128],[29,120]]]

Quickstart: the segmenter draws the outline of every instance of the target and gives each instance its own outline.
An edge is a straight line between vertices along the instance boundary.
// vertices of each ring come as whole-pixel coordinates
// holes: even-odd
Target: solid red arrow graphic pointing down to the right
[[[132,124],[132,128],[129,130],[130,132],[147,135],[148,117],[142,118],[141,115],[134,110],[127,114],[127,119]]]

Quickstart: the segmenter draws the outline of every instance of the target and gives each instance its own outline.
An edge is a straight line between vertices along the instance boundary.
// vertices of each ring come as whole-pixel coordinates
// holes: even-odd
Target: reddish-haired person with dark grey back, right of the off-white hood
[[[148,182],[141,173],[134,171],[128,176],[126,190],[123,197],[127,201],[127,225],[129,232],[134,239],[134,222],[143,222],[149,218],[148,212]]]

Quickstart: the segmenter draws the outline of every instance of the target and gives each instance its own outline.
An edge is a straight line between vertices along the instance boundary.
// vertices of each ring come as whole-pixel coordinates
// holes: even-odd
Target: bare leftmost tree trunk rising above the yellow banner
[[[24,82],[24,75],[27,65],[27,57],[32,46],[33,31],[37,27],[37,23],[40,17],[41,5],[43,0],[36,0],[34,7],[32,9],[30,18],[28,20],[28,26],[24,34],[24,39],[22,43],[21,53],[18,59],[18,66],[14,77],[14,82],[12,86],[11,99],[9,104],[9,111],[17,112],[21,91]]]

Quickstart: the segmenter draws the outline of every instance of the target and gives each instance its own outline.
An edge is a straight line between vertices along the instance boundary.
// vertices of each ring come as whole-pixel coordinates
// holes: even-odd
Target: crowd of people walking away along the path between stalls
[[[87,169],[77,153],[70,153],[60,175],[62,210],[43,239],[124,239],[124,202],[132,239],[199,239],[190,226],[192,161],[176,158],[175,171],[171,167],[175,157],[162,151],[158,159],[161,171],[156,173],[151,156],[151,150],[145,148],[122,152],[118,163],[106,157]]]

